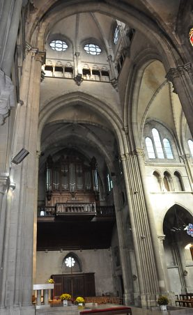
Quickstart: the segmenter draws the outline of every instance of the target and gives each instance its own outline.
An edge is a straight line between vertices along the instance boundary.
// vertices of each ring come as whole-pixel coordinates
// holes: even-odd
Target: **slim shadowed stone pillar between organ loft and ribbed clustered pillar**
[[[124,286],[124,302],[125,305],[130,305],[133,302],[132,298],[132,279],[131,279],[131,272],[129,275],[128,269],[128,261],[126,258],[125,252],[125,240],[124,240],[124,229],[123,229],[123,222],[122,222],[122,213],[121,213],[121,206],[120,201],[118,198],[118,187],[116,183],[116,176],[112,176],[113,180],[113,192],[114,192],[114,205],[115,205],[115,212],[116,212],[116,226],[118,231],[118,243],[120,249],[120,256],[121,256],[121,270],[123,275],[123,286]]]

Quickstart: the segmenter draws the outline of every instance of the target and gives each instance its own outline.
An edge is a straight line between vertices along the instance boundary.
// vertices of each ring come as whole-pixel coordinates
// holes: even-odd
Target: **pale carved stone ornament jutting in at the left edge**
[[[0,70],[0,125],[3,125],[11,107],[15,106],[14,86],[10,77]]]

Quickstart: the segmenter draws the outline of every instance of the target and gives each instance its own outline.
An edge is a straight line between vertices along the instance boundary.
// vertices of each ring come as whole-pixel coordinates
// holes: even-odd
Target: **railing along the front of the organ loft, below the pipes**
[[[56,206],[38,207],[38,217],[88,213],[93,213],[97,217],[112,217],[115,215],[115,210],[114,206],[96,206],[95,203],[56,203]]]

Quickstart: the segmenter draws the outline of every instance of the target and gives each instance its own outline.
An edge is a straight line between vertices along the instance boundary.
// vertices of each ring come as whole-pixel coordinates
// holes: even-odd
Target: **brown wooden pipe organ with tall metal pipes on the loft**
[[[95,157],[90,163],[75,155],[49,155],[45,167],[46,205],[66,202],[99,201],[98,171]]]

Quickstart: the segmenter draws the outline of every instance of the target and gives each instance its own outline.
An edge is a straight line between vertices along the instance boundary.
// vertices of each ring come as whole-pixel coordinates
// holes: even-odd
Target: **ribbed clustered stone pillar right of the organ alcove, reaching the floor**
[[[144,195],[144,183],[139,167],[141,161],[136,153],[126,153],[122,155],[121,160],[128,194],[141,306],[150,307],[156,304],[156,295],[166,291],[160,256],[156,250],[157,233],[154,231],[153,234],[153,216]]]

